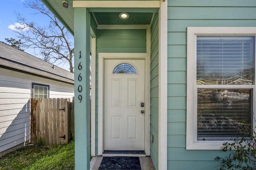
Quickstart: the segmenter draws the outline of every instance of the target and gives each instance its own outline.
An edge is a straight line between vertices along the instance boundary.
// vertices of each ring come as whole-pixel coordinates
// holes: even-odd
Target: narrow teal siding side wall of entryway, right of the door
[[[150,64],[150,156],[156,169],[158,169],[158,14],[154,16],[151,25],[151,64]]]

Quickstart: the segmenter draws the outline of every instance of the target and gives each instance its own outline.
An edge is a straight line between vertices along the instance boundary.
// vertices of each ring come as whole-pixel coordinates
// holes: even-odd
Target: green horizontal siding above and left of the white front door
[[[98,154],[98,53],[146,53],[146,29],[99,29],[96,39],[96,155]]]

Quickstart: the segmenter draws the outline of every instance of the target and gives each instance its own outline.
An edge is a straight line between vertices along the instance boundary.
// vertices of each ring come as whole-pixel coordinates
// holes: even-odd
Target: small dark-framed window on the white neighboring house
[[[34,98],[48,98],[49,85],[32,83]]]

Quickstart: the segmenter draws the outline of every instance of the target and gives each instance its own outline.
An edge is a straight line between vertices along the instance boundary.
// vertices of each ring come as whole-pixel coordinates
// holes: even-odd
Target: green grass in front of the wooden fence
[[[74,141],[62,146],[26,146],[0,158],[0,170],[73,170]]]

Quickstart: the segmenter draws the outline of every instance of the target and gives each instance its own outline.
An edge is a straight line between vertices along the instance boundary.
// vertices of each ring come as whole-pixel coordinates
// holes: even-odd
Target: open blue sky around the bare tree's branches
[[[48,25],[49,19],[44,15],[33,15],[35,12],[31,8],[25,8],[23,3],[26,0],[1,0],[0,4],[0,41],[6,43],[5,38],[14,38],[17,39],[16,33],[12,31],[13,27],[17,25],[16,22],[16,13],[22,14],[28,21],[34,21],[40,25]],[[34,55],[34,51],[32,49],[25,49],[26,53]],[[57,64],[56,64],[57,65]],[[66,70],[68,66],[58,65]]]

